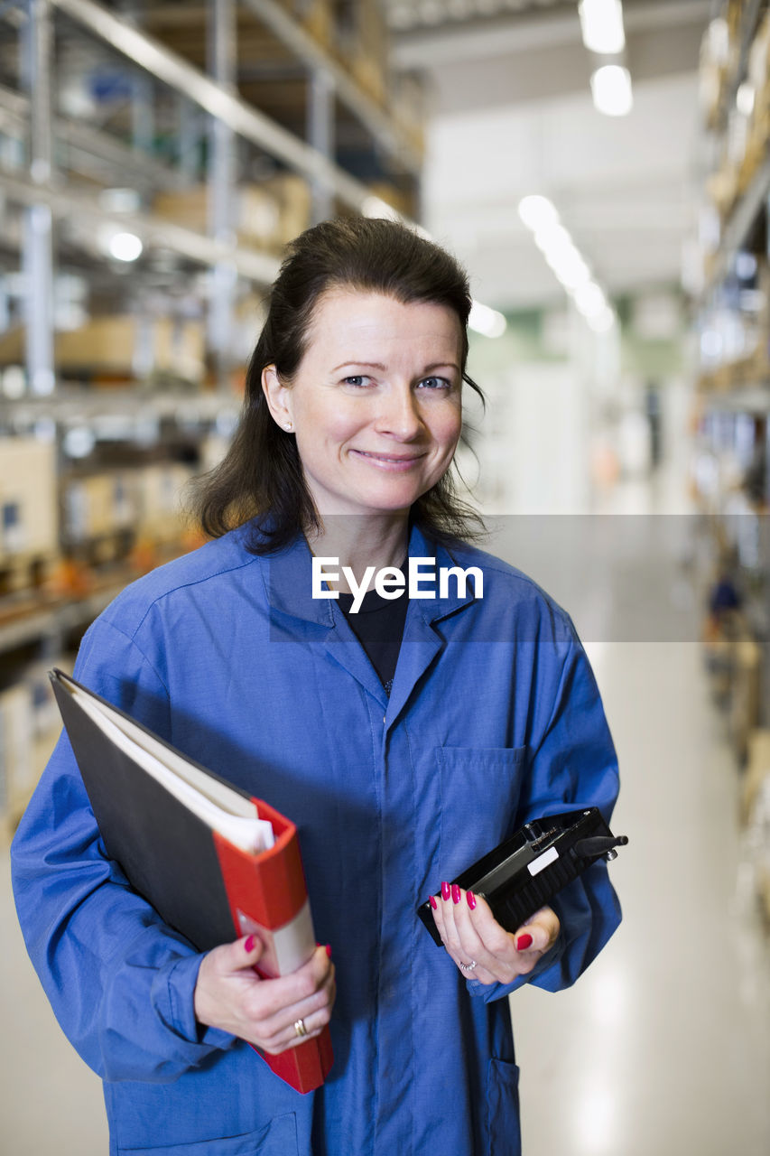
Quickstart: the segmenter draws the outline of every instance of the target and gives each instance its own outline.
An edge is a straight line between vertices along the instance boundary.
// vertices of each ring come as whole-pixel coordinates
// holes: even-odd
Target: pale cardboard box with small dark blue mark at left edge
[[[59,547],[55,445],[0,442],[0,564],[54,555]]]

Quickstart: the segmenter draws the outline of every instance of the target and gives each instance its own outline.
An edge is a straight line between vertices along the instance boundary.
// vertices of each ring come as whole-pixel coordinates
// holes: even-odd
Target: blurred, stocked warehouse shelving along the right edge
[[[770,918],[770,12],[767,0],[728,0],[715,17],[718,46],[725,29],[731,39],[717,61],[704,59],[716,168],[697,303],[696,492],[712,516],[710,577],[719,578],[705,644],[745,770],[741,815]]]

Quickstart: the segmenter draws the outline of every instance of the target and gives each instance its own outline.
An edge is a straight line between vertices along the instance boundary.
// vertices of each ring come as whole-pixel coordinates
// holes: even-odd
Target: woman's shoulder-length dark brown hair
[[[268,298],[268,312],[246,371],[244,408],[222,462],[199,480],[193,509],[203,531],[217,538],[254,519],[249,549],[267,554],[299,529],[319,531],[320,516],[305,484],[296,439],[271,416],[262,393],[266,365],[291,381],[304,356],[313,310],[327,290],[379,292],[403,304],[429,302],[460,321],[462,380],[472,297],[460,265],[438,245],[393,221],[350,217],[325,221],[301,234],[286,251]],[[480,514],[458,497],[454,464],[412,507],[412,518],[436,541],[477,538]]]

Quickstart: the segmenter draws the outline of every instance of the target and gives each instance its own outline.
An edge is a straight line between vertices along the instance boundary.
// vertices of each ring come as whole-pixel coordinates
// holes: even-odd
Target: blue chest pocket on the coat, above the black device
[[[516,830],[526,747],[437,747],[442,879],[453,879]]]

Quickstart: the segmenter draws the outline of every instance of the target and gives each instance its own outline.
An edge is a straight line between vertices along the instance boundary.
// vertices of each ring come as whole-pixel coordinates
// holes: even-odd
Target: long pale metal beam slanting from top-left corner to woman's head
[[[57,8],[146,68],[177,92],[183,92],[245,140],[309,179],[323,181],[340,200],[361,210],[369,191],[345,170],[331,164],[304,141],[276,125],[158,40],[94,3],[92,0],[52,0]]]

